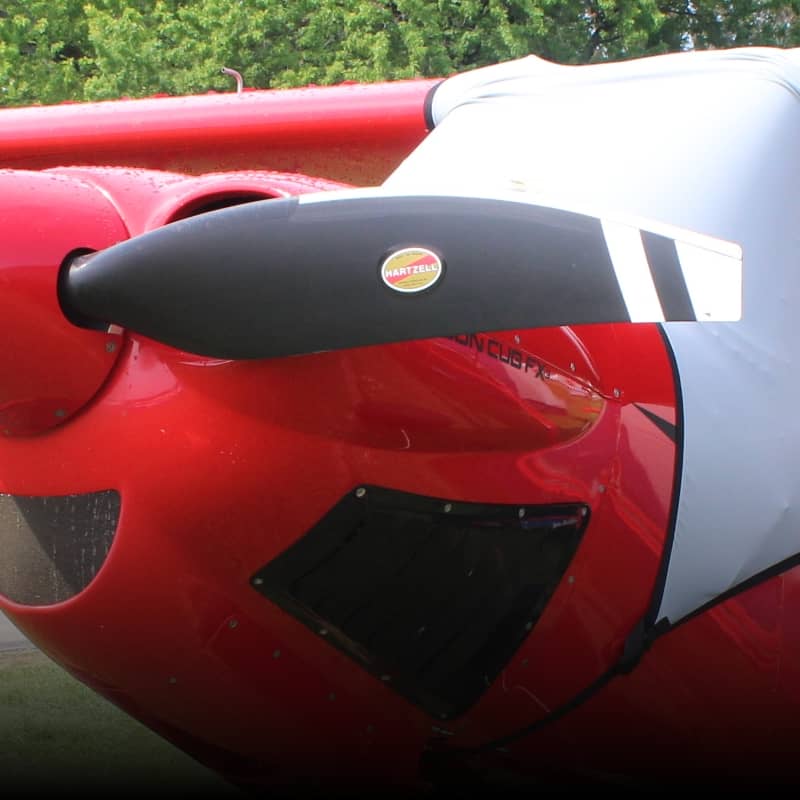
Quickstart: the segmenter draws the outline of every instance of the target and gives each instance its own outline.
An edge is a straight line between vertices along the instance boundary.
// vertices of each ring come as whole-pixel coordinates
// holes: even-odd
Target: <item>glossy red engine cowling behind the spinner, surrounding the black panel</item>
[[[324,188],[274,175],[46,174],[98,187],[132,233],[220,187]],[[3,608],[82,680],[242,780],[289,781],[310,760],[332,778],[414,785],[436,720],[249,578],[361,484],[587,503],[568,578],[501,678],[449,729],[478,743],[569,698],[616,659],[646,609],[666,530],[674,447],[620,399],[619,343],[632,335],[610,328],[615,346],[592,348],[595,330],[512,331],[236,363],[129,333],[86,413],[0,450],[14,464],[0,475],[5,493],[119,491],[107,562],[69,601]],[[635,339],[653,374],[668,376],[657,330]],[[674,408],[668,378],[630,392]],[[573,658],[554,662],[553,651]]]

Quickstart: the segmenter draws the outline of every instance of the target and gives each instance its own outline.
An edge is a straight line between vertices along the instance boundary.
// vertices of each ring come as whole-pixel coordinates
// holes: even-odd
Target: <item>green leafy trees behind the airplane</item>
[[[0,0],[0,104],[800,44],[800,0]]]

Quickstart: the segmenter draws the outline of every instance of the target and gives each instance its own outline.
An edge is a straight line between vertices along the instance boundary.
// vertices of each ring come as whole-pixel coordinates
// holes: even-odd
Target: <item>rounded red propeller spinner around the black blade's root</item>
[[[74,177],[0,173],[0,434],[63,423],[97,393],[123,332],[71,324],[58,302],[61,264],[128,231],[95,187]]]

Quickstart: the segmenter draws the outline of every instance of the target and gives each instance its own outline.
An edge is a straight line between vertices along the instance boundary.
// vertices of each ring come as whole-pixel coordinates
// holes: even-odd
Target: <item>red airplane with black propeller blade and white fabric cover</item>
[[[796,785],[798,97],[0,111],[0,609],[255,792]]]

